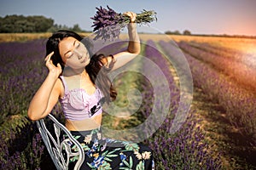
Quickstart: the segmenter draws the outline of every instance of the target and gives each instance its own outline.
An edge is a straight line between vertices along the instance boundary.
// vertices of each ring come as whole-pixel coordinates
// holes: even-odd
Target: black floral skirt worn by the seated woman
[[[84,162],[81,170],[90,169],[154,169],[152,150],[143,144],[102,139],[100,129],[71,131],[84,149]],[[73,169],[75,162],[69,162]]]

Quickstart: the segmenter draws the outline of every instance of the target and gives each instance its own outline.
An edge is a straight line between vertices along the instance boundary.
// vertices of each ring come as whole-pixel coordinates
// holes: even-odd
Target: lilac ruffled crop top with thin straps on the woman
[[[96,88],[94,94],[87,94],[83,88],[69,90],[65,78],[61,76],[65,94],[60,99],[64,115],[71,121],[80,121],[102,113],[102,92]]]

